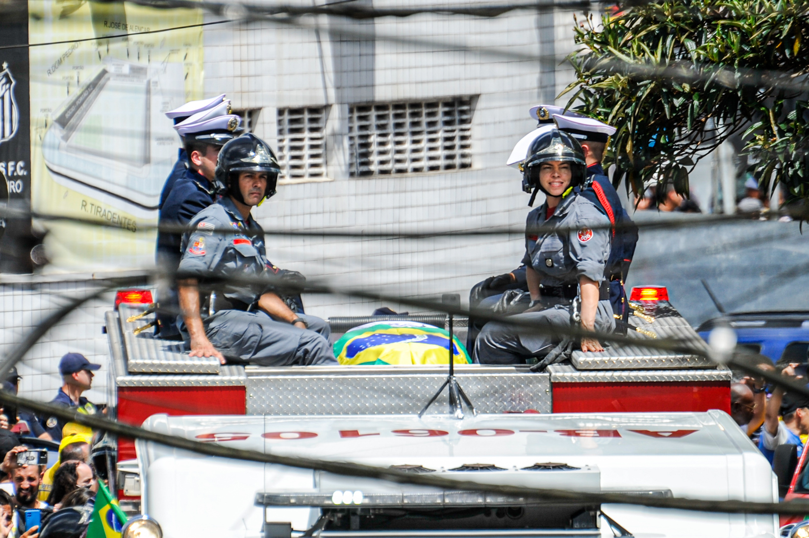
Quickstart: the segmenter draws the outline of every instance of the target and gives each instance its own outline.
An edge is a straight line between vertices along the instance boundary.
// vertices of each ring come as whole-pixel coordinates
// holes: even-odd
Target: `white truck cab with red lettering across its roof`
[[[350,397],[350,395],[345,395]],[[197,441],[481,483],[777,502],[767,460],[726,413],[150,417]],[[165,538],[776,536],[775,515],[710,514],[399,485],[203,457],[138,441],[143,510]],[[310,531],[309,535],[311,536]]]

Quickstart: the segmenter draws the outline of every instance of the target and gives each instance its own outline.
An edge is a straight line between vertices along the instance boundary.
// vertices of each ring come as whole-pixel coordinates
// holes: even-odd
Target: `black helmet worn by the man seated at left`
[[[239,172],[267,172],[267,189],[259,205],[275,194],[281,167],[267,142],[255,134],[247,133],[222,146],[216,163],[216,182],[223,193],[244,202],[239,190]]]

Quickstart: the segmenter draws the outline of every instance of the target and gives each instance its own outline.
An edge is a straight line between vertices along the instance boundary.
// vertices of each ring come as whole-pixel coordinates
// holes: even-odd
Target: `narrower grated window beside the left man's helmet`
[[[326,176],[324,107],[278,108],[278,164],[285,180]]]

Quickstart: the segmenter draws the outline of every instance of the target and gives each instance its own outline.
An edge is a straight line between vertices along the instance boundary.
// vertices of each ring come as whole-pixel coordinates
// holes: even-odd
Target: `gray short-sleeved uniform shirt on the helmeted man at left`
[[[264,230],[248,216],[245,221],[230,197],[222,197],[213,205],[197,213],[183,235],[178,273],[188,277],[227,278],[232,275],[260,277],[277,273],[278,269],[267,260]],[[215,233],[232,229],[231,234]],[[258,300],[266,285],[227,282],[218,286],[218,293],[227,299],[252,304]]]

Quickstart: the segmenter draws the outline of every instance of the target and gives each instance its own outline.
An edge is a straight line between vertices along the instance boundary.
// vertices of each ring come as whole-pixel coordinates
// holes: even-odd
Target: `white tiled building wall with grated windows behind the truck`
[[[527,194],[519,172],[504,163],[515,142],[536,125],[528,108],[553,102],[572,80],[570,68],[550,59],[574,48],[572,13],[360,22],[320,17],[313,23],[319,28],[263,22],[203,30],[205,96],[227,93],[282,160],[285,177],[277,195],[256,210],[265,229],[396,232],[523,225]],[[478,52],[485,48],[491,50]],[[559,104],[565,102],[566,97]],[[267,244],[276,265],[335,286],[392,295],[458,293],[464,301],[475,282],[519,265],[523,251],[519,235],[395,240],[272,235]],[[0,354],[59,303],[54,294],[85,293],[84,278],[90,277],[64,284],[3,278]],[[371,314],[379,306],[399,309],[342,295],[304,300],[307,311],[323,317]],[[101,328],[110,306],[108,298],[88,303],[40,339],[19,366],[23,395],[50,399],[61,381],[58,358],[78,351],[104,364],[88,395],[104,401],[108,349]]]

